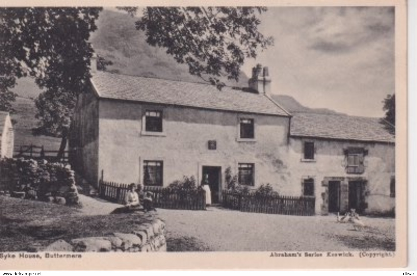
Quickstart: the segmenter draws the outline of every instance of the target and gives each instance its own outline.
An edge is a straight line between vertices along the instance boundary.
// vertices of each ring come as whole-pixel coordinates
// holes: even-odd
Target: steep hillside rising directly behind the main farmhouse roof
[[[145,34],[135,28],[136,19],[125,13],[103,10],[98,17],[98,30],[91,42],[98,55],[111,60],[108,70],[127,75],[160,77],[169,80],[202,82],[178,64],[164,49],[147,44]],[[241,73],[239,82],[222,79],[228,86],[245,87],[248,77]]]

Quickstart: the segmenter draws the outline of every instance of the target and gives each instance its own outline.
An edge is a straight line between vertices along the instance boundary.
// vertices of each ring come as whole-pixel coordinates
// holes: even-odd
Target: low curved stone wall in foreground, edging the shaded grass
[[[73,252],[165,252],[165,223],[160,219],[142,224],[130,233],[115,232],[107,236],[58,240],[36,251]]]

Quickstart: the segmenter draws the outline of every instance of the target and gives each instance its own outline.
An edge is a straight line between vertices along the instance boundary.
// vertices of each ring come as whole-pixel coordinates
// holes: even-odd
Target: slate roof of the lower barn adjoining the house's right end
[[[395,142],[387,124],[379,118],[344,114],[293,113],[291,136],[369,142]]]

